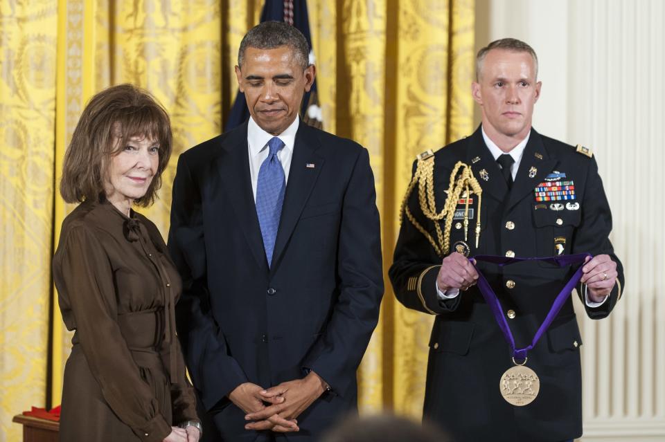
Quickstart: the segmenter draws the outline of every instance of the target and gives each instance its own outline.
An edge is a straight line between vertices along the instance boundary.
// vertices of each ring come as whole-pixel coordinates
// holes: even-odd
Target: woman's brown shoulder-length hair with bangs
[[[161,187],[161,173],[171,156],[171,124],[161,104],[148,91],[132,84],[101,91],[83,109],[64,154],[60,181],[64,201],[99,199],[104,194],[109,159],[120,153],[134,136],[145,136],[159,143],[157,173],[145,195],[134,201],[144,207],[152,204]]]

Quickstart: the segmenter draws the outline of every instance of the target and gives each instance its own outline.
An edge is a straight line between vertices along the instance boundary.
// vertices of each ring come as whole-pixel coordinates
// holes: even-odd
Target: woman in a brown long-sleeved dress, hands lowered
[[[53,278],[67,329],[61,441],[196,442],[202,427],[175,334],[181,283],[154,201],[171,153],[164,109],[129,84],[89,102],[64,156]]]

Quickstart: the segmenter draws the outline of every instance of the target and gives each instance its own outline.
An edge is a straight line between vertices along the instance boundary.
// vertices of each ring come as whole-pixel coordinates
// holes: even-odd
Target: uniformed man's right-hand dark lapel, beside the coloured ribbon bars
[[[520,161],[520,169],[517,170],[515,183],[511,189],[511,196],[508,199],[506,210],[511,210],[525,196],[533,194],[533,188],[538,183],[542,183],[544,177],[556,165],[556,161],[556,158],[550,158],[547,154],[540,134],[535,129],[531,129],[529,142],[526,143],[526,147],[524,148],[524,154],[522,154],[522,160]]]

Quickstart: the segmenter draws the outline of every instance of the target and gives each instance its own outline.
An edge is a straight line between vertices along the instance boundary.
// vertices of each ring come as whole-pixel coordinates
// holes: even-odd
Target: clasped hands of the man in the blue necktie
[[[238,385],[229,399],[247,415],[245,430],[299,431],[297,417],[326,391],[323,380],[314,373],[264,389],[253,383]]]

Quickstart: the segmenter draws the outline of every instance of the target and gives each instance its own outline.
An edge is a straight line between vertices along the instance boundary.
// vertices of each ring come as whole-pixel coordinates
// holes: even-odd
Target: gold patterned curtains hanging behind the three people
[[[19,438],[13,414],[44,406],[47,396],[60,402],[71,336],[57,310],[50,266],[60,223],[72,208],[57,183],[82,108],[105,87],[132,82],[168,109],[175,154],[159,201],[145,210],[166,235],[177,155],[222,130],[236,93],[237,48],[262,5],[0,0],[0,442]],[[308,4],[324,125],[371,153],[386,269],[414,156],[472,131],[473,5]],[[432,321],[400,306],[386,282],[380,324],[358,374],[360,407],[419,418]]]

